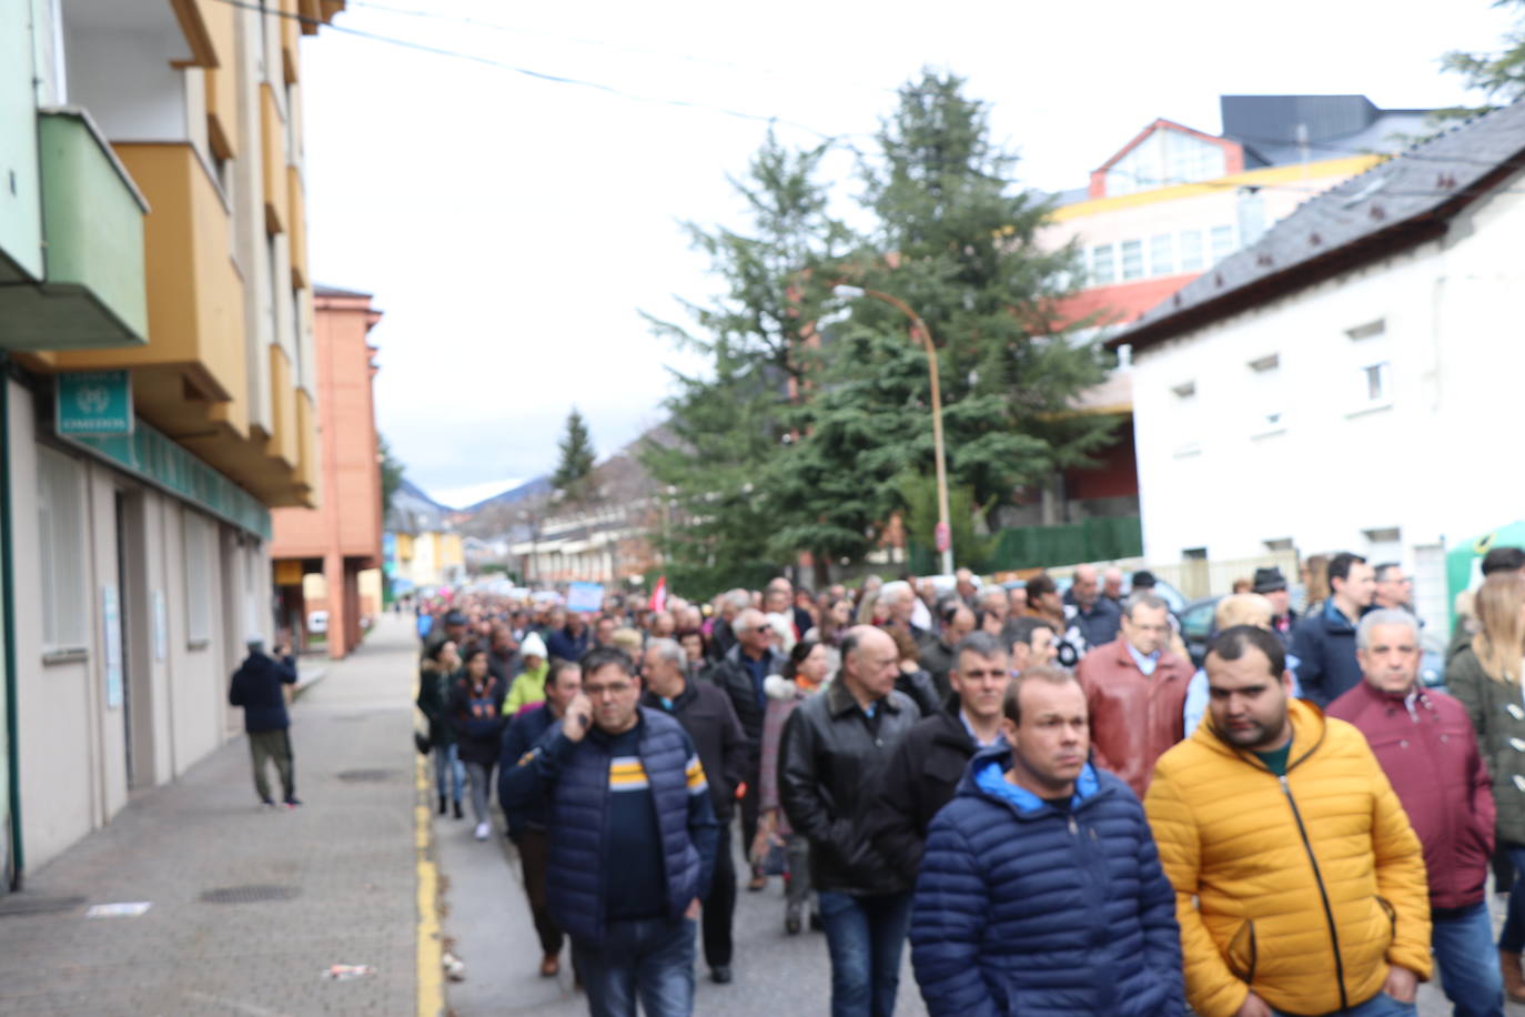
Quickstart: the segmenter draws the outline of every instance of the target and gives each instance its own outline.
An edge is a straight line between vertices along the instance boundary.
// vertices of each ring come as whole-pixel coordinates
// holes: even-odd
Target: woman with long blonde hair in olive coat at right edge
[[[1493,775],[1494,829],[1478,831],[1508,851],[1516,872],[1525,872],[1525,698],[1520,671],[1525,668],[1525,576],[1494,572],[1482,581],[1473,602],[1478,634],[1472,645],[1450,659],[1446,688],[1461,700],[1478,732],[1478,750]],[[1502,887],[1501,887],[1502,889]],[[1516,877],[1510,890],[1504,930],[1499,933],[1499,968],[1510,1000],[1525,1003],[1525,880]]]

